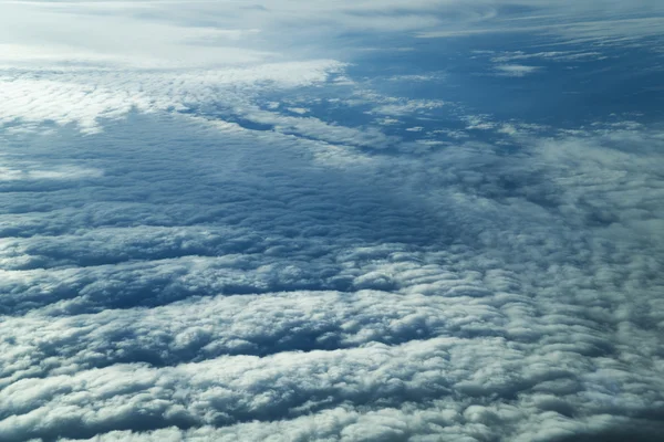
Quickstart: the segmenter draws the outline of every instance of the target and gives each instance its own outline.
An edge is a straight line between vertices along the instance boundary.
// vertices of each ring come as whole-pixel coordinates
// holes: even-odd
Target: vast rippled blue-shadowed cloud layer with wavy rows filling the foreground
[[[188,134],[178,144],[156,116],[134,118],[117,123],[135,130],[117,139],[70,130],[59,157],[104,173],[51,190],[44,215],[20,206],[3,214],[10,225],[23,219],[2,252],[14,266],[1,288],[6,440],[129,438],[111,430],[137,440],[481,440],[494,428],[554,440],[609,431],[625,415],[656,428],[661,377],[647,360],[657,340],[642,324],[661,323],[662,309],[642,251],[664,245],[658,154],[645,148],[658,133],[598,126],[584,138],[536,138],[512,158],[468,143],[432,154],[429,169],[387,157],[340,179],[291,156],[309,141],[271,133],[257,151],[260,133],[235,129],[225,133],[232,149],[215,151],[214,125],[170,118]],[[169,144],[144,144],[127,169],[136,150],[124,140],[147,143],[157,127]],[[81,144],[95,156],[77,157]],[[643,147],[620,150],[627,144]],[[252,178],[277,165],[282,178]],[[194,186],[177,178],[188,168]],[[624,176],[641,177],[641,197],[625,198],[634,181]],[[41,190],[30,191],[39,204]],[[422,208],[390,208],[385,191]],[[423,218],[425,207],[437,215]],[[321,421],[331,423],[313,430]]]

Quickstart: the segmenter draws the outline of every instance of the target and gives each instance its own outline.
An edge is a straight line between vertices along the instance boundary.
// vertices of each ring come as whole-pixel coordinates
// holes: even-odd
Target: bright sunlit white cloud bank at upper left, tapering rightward
[[[144,73],[126,70],[51,71],[53,80],[35,78],[32,70],[0,75],[0,123],[76,124],[85,133],[98,120],[124,118],[132,110],[186,110],[218,101],[242,103],[235,88],[289,88],[323,82],[343,64],[334,61],[258,64],[215,71]]]

